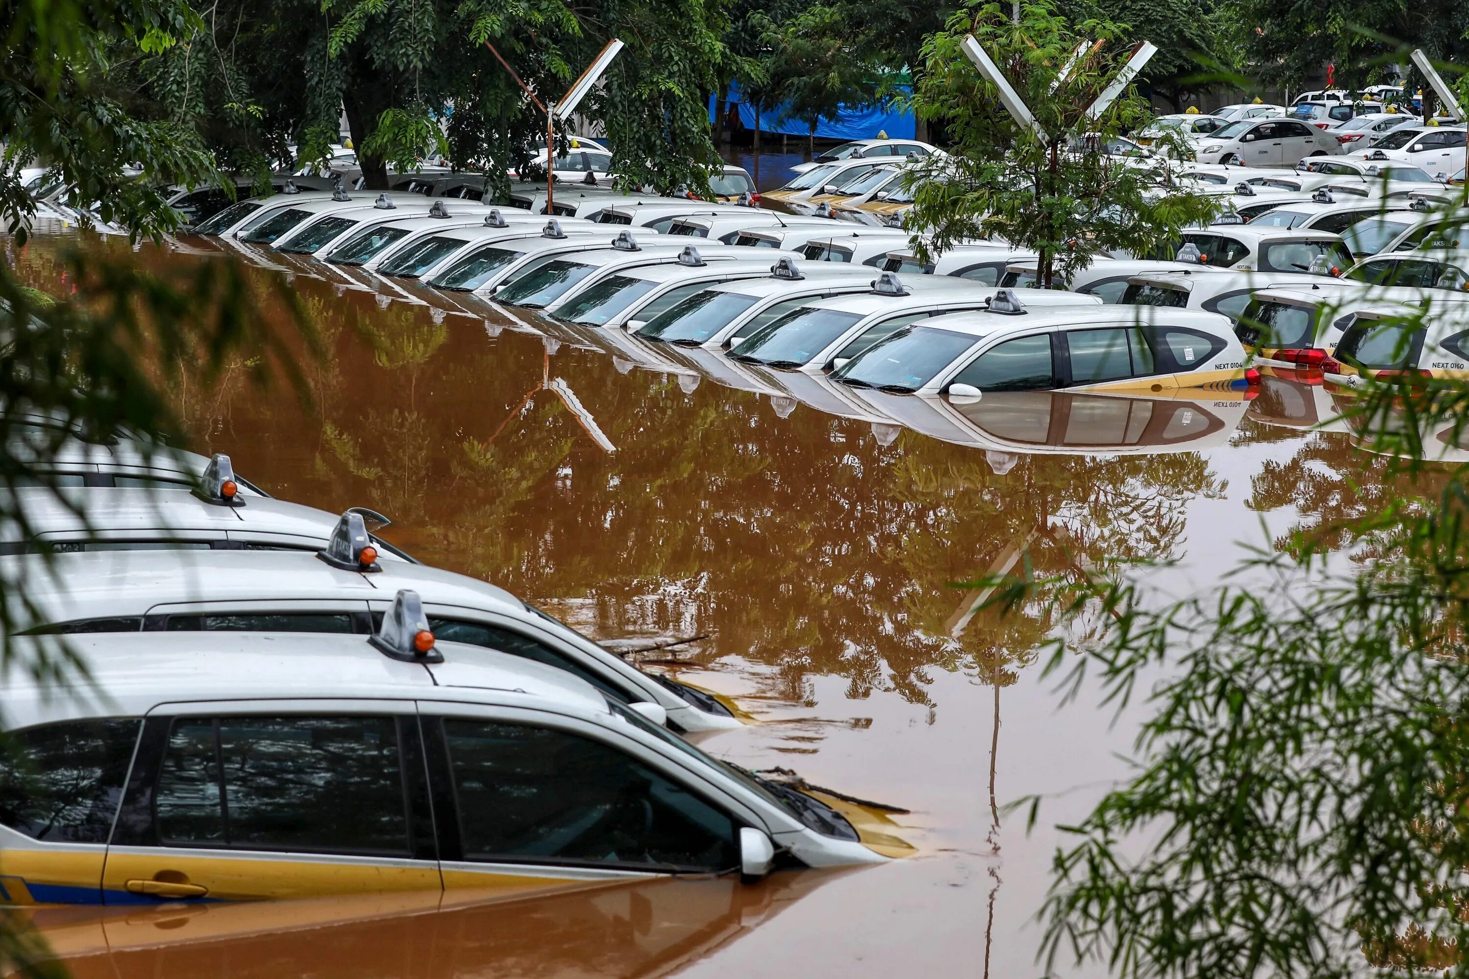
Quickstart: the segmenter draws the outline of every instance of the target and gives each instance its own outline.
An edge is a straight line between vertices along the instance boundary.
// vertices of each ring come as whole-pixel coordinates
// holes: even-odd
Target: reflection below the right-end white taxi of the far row
[[[914,398],[858,391],[874,410],[961,445],[1017,454],[1146,456],[1222,445],[1253,390],[1174,388],[1161,395],[996,391]]]

